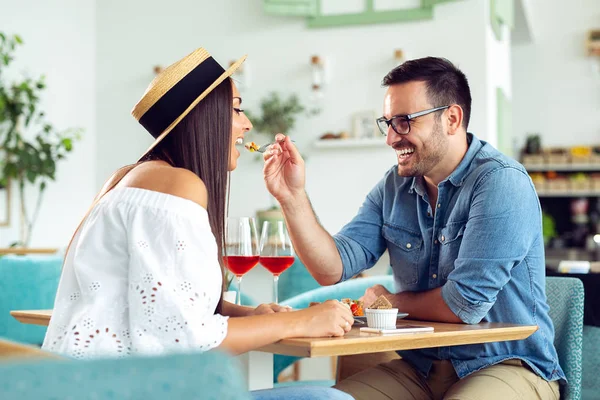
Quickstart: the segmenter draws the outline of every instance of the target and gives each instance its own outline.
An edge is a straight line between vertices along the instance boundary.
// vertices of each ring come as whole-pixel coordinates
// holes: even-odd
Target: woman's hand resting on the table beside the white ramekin
[[[352,329],[354,317],[350,309],[337,300],[297,311],[301,323],[298,324],[300,337],[344,336]]]

